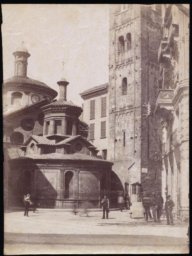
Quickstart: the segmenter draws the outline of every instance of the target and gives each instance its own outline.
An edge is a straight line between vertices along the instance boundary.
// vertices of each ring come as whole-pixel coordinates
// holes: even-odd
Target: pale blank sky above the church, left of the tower
[[[14,76],[12,52],[24,41],[27,76],[57,91],[64,76],[75,104],[82,104],[80,92],[108,82],[108,5],[3,4],[2,13],[3,79]]]

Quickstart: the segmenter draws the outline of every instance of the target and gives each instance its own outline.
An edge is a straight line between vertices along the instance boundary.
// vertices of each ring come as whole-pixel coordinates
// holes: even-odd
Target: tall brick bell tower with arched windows
[[[161,5],[110,5],[109,160],[129,195],[137,182],[144,191],[161,191],[161,124],[153,115],[160,12]]]

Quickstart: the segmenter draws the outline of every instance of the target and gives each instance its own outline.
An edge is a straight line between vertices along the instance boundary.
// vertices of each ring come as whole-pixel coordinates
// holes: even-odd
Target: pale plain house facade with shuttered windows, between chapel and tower
[[[79,94],[84,100],[83,121],[88,124],[88,140],[104,160],[107,160],[108,148],[108,86],[102,84]]]

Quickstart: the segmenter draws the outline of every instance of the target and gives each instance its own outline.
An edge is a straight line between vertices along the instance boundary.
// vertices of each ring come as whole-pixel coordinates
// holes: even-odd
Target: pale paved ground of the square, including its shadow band
[[[188,224],[130,218],[129,211],[73,215],[40,209],[5,213],[5,254],[187,253]]]

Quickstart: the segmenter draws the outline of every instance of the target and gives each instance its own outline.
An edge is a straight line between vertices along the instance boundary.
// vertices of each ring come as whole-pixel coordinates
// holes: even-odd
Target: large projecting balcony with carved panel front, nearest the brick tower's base
[[[160,89],[155,104],[154,114],[162,119],[167,119],[173,110],[172,98],[174,96],[173,89]]]

